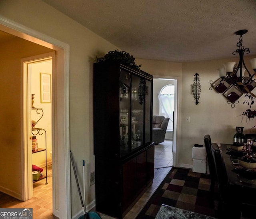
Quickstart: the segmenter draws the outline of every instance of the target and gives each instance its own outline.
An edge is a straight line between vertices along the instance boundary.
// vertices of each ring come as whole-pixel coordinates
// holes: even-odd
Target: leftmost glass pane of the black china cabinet
[[[130,73],[120,70],[120,157],[130,153]]]

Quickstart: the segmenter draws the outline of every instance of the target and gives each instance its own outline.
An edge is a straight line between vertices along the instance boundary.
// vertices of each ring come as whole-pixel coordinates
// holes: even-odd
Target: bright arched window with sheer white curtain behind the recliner
[[[170,118],[167,131],[173,131],[174,90],[174,85],[168,84],[161,89],[158,95],[159,115]]]

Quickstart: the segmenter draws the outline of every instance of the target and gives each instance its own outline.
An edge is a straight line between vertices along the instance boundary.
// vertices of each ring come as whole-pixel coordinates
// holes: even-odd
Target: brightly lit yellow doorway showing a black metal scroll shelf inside
[[[24,100],[27,103],[27,132],[24,139],[28,144],[28,172],[32,171],[32,180],[28,180],[28,199],[38,195],[39,185],[43,180],[52,185],[52,63],[54,52],[36,57],[26,58],[24,61]],[[24,111],[24,113],[26,113]],[[26,117],[26,116],[25,116]],[[50,177],[50,179],[49,179]],[[30,176],[29,176],[30,178]],[[33,183],[32,183],[33,182]],[[42,184],[43,185],[43,184]],[[50,188],[50,185],[47,186]],[[52,194],[48,189],[49,203]],[[52,209],[52,207],[51,207]]]

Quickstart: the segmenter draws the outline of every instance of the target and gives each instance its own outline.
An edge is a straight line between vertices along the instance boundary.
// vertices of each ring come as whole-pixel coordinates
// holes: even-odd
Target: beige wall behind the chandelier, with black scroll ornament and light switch
[[[251,66],[248,61],[250,58],[245,58],[248,68]],[[239,98],[240,103],[236,104],[235,108],[231,108],[222,94],[209,90],[210,81],[214,82],[219,78],[217,69],[228,61],[237,61],[237,59],[182,64],[182,138],[180,149],[183,153],[179,153],[179,163],[192,165],[192,147],[195,143],[204,144],[204,135],[209,134],[212,142],[215,143],[233,143],[236,126],[243,126],[244,133],[249,133],[249,129],[255,125],[253,120],[248,124],[246,119],[241,122],[242,117],[239,115],[248,109],[248,106],[243,104],[244,95]],[[251,68],[249,69],[251,70]],[[198,105],[194,104],[193,95],[190,94],[190,85],[193,84],[196,72],[199,74],[198,77],[202,86]],[[253,71],[251,70],[251,72]],[[186,116],[190,116],[190,123],[186,122]]]

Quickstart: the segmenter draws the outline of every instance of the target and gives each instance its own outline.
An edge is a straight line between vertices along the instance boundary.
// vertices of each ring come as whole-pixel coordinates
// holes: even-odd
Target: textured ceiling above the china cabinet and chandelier
[[[135,58],[234,57],[239,36],[256,55],[256,0],[43,0]]]

